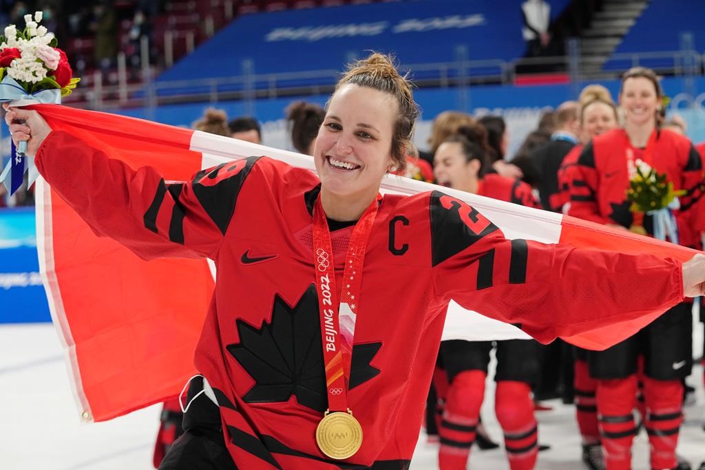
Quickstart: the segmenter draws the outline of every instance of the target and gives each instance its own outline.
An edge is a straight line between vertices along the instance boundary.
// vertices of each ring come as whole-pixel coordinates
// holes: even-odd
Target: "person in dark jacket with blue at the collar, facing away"
[[[570,149],[579,142],[580,104],[577,101],[560,104],[555,120],[556,130],[551,134],[551,141],[532,152],[531,158],[539,173],[541,207],[558,212],[563,206],[556,199],[559,193],[558,169]]]

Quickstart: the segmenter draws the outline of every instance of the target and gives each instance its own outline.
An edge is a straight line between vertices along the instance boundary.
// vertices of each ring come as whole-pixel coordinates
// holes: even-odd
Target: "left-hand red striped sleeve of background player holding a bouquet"
[[[600,214],[597,204],[597,187],[599,175],[595,166],[595,155],[592,142],[589,142],[580,152],[577,164],[572,170],[570,191],[570,206],[568,215],[601,224],[614,223],[610,218]]]

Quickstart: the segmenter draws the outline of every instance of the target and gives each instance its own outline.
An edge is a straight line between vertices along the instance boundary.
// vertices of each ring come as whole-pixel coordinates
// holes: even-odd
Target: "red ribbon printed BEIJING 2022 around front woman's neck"
[[[345,256],[343,285],[340,295],[336,288],[336,271],[333,263],[331,233],[321,197],[316,199],[313,210],[313,252],[316,270],[319,312],[321,315],[321,340],[326,366],[326,392],[329,412],[348,411],[348,380],[350,359],[353,355],[353,337],[357,306],[360,304],[362,286],[362,264],[367,240],[372,233],[372,224],[377,215],[379,198],[372,201],[350,237]],[[345,377],[348,370],[348,378]]]

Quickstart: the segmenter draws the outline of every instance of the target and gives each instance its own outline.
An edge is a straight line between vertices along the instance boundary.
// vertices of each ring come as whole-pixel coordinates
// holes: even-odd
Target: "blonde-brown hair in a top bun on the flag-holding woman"
[[[400,75],[392,56],[373,52],[367,58],[351,63],[336,85],[336,92],[343,85],[352,84],[391,94],[396,99],[397,118],[393,127],[391,154],[398,171],[406,169],[407,156],[418,155],[412,137],[420,112],[407,76]]]

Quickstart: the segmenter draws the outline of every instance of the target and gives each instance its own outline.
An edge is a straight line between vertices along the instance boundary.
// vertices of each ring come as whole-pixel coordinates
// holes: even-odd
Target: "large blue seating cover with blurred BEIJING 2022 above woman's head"
[[[319,7],[330,4],[330,0],[244,2],[243,6],[250,4],[252,11],[265,13],[241,15],[193,54],[162,73],[157,82],[237,77],[247,71],[247,66],[243,68],[244,61],[251,61],[250,73],[257,75],[341,70],[341,64],[369,49],[393,51],[409,65],[451,63],[459,58],[498,59],[496,63],[466,70],[471,76],[498,75],[501,61],[520,58],[525,51],[522,18],[515,3],[490,5],[481,0],[350,3],[336,7],[336,14],[331,15],[331,8]],[[550,3],[555,17],[570,0]],[[283,11],[278,11],[280,6]],[[250,10],[240,9],[240,13],[247,11]],[[432,69],[416,68],[415,78],[432,80],[442,74],[446,78],[458,74],[458,70]],[[333,82],[333,76],[299,76],[292,80],[317,84],[317,80]],[[265,82],[255,83],[255,87],[266,87]],[[277,85],[282,86],[279,82]],[[230,85],[231,89],[241,86]]]

